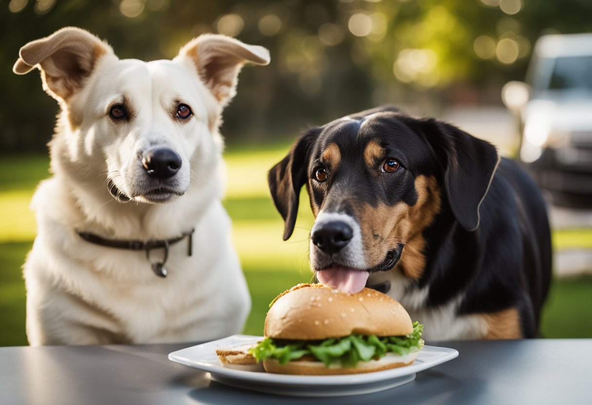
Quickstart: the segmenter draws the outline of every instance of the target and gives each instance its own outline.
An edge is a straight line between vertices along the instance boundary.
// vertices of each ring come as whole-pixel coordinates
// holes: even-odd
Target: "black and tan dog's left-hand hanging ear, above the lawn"
[[[321,130],[314,127],[302,134],[288,155],[269,171],[269,191],[285,221],[284,240],[288,240],[294,232],[300,189],[308,179],[308,152]]]

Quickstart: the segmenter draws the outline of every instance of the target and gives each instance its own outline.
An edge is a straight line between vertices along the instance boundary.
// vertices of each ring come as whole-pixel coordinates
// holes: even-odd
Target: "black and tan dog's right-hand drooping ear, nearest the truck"
[[[431,118],[423,121],[422,128],[443,169],[452,213],[464,229],[474,231],[481,201],[500,162],[496,147]]]

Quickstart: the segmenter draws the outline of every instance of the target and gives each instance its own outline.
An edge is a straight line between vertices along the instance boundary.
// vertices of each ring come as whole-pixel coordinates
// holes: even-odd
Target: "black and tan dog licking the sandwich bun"
[[[433,118],[364,111],[311,128],[269,172],[284,240],[303,185],[319,281],[386,292],[427,339],[538,335],[551,279],[546,207],[491,144]]]

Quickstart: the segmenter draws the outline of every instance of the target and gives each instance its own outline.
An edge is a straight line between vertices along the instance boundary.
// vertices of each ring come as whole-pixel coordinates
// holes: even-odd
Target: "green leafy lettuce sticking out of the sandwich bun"
[[[249,353],[258,362],[276,359],[283,365],[311,355],[326,367],[336,363],[342,367],[356,367],[359,361],[379,359],[389,352],[407,355],[419,351],[423,346],[422,332],[423,325],[414,322],[413,332],[406,336],[349,335],[312,341],[265,338]]]

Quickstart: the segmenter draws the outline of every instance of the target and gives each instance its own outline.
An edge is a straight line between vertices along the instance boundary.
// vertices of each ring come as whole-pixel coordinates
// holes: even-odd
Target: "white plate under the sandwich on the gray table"
[[[413,381],[416,372],[442,364],[458,356],[455,349],[423,346],[412,365],[349,375],[271,374],[224,368],[220,365],[215,353],[217,348],[252,343],[260,339],[263,338],[247,335],[229,336],[169,353],[169,360],[209,372],[212,381],[232,387],[291,396],[332,397],[368,394],[397,387],[397,385]]]

